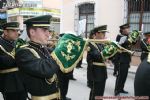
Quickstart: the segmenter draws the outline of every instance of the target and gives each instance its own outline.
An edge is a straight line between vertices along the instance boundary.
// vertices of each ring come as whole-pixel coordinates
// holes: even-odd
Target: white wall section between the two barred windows
[[[119,26],[123,24],[124,0],[96,0],[95,26],[108,25],[110,33],[107,37],[115,39],[119,33]]]

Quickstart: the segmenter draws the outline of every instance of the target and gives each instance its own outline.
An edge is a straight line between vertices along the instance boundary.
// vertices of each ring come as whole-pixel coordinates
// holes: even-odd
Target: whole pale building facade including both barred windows
[[[84,37],[99,25],[108,25],[107,37],[115,39],[119,26],[129,23],[131,30],[150,31],[149,0],[63,0],[61,14],[61,32],[80,32],[84,28]],[[82,19],[86,24],[80,25]],[[85,25],[85,26],[84,26]]]

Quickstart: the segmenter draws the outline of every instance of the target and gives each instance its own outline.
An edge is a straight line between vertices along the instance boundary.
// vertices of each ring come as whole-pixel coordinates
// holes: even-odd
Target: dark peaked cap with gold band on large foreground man
[[[24,21],[27,27],[50,27],[51,15],[33,17]]]

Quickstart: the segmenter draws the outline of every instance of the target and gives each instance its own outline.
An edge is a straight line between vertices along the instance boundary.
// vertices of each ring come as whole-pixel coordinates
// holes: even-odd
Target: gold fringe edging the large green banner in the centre
[[[60,67],[60,70],[63,72],[63,73],[69,73],[69,72],[71,72],[75,67],[76,67],[76,65],[78,64],[78,62],[82,59],[82,56],[83,56],[83,53],[84,53],[84,50],[85,50],[85,48],[86,48],[86,46],[87,46],[87,41],[86,41],[86,43],[85,43],[85,45],[84,45],[84,47],[83,47],[83,51],[81,52],[81,55],[79,56],[79,58],[76,60],[76,62],[72,65],[72,66],[70,66],[69,68],[64,68],[64,66],[63,66],[63,64],[61,63],[61,61],[58,59],[58,57],[56,56],[56,54],[55,54],[55,52],[53,51],[52,53],[51,53],[51,56],[52,56],[52,58],[56,61],[56,63],[59,65],[59,67]]]

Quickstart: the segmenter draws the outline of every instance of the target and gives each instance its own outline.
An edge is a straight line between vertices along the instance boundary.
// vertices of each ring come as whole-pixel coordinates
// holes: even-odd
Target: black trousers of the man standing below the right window
[[[119,73],[117,75],[115,84],[115,94],[120,93],[124,89],[129,67],[130,67],[129,63],[119,64]]]

